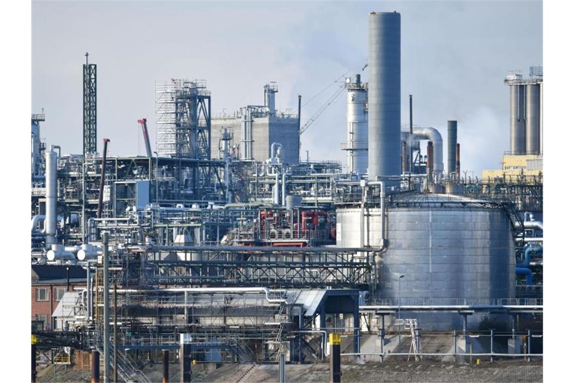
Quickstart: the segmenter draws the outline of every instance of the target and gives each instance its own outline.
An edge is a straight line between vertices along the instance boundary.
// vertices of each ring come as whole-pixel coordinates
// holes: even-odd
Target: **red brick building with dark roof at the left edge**
[[[32,265],[32,323],[42,330],[56,328],[52,313],[66,291],[86,287],[82,266]]]

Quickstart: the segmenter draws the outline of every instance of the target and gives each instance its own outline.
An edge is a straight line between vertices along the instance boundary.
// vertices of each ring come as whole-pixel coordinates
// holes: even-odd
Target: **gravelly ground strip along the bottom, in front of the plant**
[[[203,366],[202,366],[203,367]],[[277,365],[224,365],[209,372],[197,367],[194,382],[277,382]],[[162,365],[147,365],[144,373],[153,382],[162,379]],[[328,382],[329,363],[286,365],[288,382]],[[73,371],[64,366],[47,367],[39,373],[38,382],[90,382],[89,371]],[[170,381],[179,381],[179,366],[170,364]],[[542,382],[543,365],[536,361],[497,361],[480,365],[441,362],[397,362],[342,365],[342,382]]]

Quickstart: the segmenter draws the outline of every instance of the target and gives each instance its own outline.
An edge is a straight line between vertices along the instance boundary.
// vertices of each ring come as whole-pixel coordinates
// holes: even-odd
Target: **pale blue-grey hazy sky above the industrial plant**
[[[110,154],[144,154],[137,119],[155,148],[154,83],[206,79],[215,113],[262,102],[276,81],[279,109],[302,125],[336,90],[306,104],[344,72],[367,62],[370,11],[401,13],[402,123],[447,138],[459,121],[462,169],[500,168],[509,146],[508,69],[542,64],[542,3],[470,2],[37,2],[32,5],[32,110],[41,134],[64,153],[82,152],[84,53],[98,64],[98,142]],[[91,25],[90,25],[91,24]],[[367,70],[363,72],[367,78]],[[301,138],[302,157],[341,160],[341,95]],[[99,146],[98,146],[99,148]],[[447,158],[444,154],[444,158]]]

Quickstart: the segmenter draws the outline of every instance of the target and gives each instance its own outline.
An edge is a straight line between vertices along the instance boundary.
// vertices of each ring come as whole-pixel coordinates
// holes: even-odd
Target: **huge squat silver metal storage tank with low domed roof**
[[[515,297],[511,221],[503,209],[453,195],[412,195],[394,198],[386,211],[388,250],[376,259],[373,298],[379,300],[370,304],[489,304]],[[381,243],[380,214],[379,208],[366,209],[363,245]],[[361,208],[339,208],[337,220],[338,246],[361,246]],[[458,314],[404,311],[401,318],[442,331],[461,328],[462,320]],[[480,320],[469,316],[468,326]]]

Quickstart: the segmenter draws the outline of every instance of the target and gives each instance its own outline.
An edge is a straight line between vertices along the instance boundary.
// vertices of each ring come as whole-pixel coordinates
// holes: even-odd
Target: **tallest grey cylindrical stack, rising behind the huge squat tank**
[[[399,13],[370,13],[368,58],[370,180],[401,173],[400,31]]]

